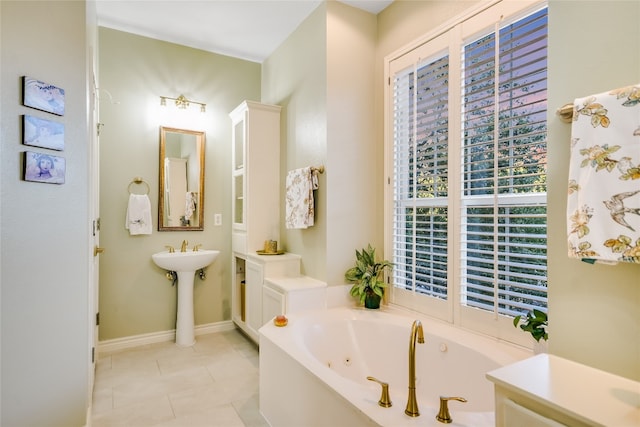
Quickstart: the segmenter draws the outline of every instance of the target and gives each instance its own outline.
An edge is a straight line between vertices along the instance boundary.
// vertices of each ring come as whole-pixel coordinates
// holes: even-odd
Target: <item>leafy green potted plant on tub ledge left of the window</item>
[[[347,281],[354,283],[351,296],[358,298],[366,308],[380,308],[386,286],[381,276],[385,269],[392,267],[393,264],[389,261],[376,261],[376,250],[371,244],[362,251],[356,249],[356,265],[344,274]]]

